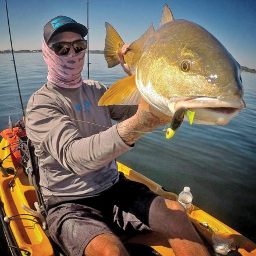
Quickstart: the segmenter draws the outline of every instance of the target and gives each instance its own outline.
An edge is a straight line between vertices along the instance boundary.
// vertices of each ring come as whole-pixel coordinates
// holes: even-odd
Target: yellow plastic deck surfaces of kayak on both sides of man
[[[8,141],[2,139],[0,143],[1,159],[7,157],[10,153],[9,147],[6,146],[8,146]],[[5,149],[3,150],[3,148]],[[13,169],[17,168],[17,166],[13,165],[11,157],[6,158],[3,162],[3,167]],[[140,173],[137,173],[122,163],[118,163],[118,168],[119,171],[123,172],[129,179],[146,184],[152,191],[155,191],[155,193],[162,195],[163,197],[169,198],[170,200],[177,200],[176,194],[164,190],[159,184],[143,175],[140,175]],[[3,213],[5,216],[10,218],[11,216],[20,215],[10,218],[13,220],[9,223],[9,229],[12,232],[16,246],[25,250],[21,251],[22,255],[54,255],[52,244],[50,243],[46,232],[42,229],[38,218],[23,215],[29,214],[29,212],[26,212],[22,208],[22,204],[34,209],[34,202],[37,201],[34,187],[30,186],[28,177],[21,167],[17,171],[14,183],[12,182],[13,177],[13,174],[10,174],[8,177],[4,177],[2,173],[0,173],[0,199],[3,204]],[[10,184],[13,184],[13,186],[10,187]],[[241,255],[256,255],[256,245],[252,241],[226,226],[224,223],[218,221],[218,219],[215,219],[211,215],[202,211],[200,208],[195,207],[195,205],[192,205],[188,215],[191,222],[208,241],[208,243],[212,244],[212,234],[214,231],[218,230],[219,233],[229,234],[229,236],[234,239],[232,243],[232,250],[234,250],[236,246],[239,246],[239,253]],[[204,222],[208,223],[208,227],[203,225]],[[126,243],[150,246],[163,256],[175,255],[172,248],[170,248],[166,237],[154,232],[132,237],[127,240]],[[26,251],[29,252],[29,254],[26,254]]]

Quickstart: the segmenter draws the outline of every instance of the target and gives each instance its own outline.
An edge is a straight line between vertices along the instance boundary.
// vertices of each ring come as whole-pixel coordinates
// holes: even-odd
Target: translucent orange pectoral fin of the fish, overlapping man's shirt
[[[137,105],[139,101],[140,92],[133,74],[113,84],[99,99],[98,105]]]

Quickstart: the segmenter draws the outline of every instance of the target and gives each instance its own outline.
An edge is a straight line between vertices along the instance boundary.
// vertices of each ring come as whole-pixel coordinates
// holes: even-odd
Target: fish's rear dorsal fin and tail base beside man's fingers
[[[138,61],[140,60],[141,55],[143,54],[143,46],[145,44],[145,41],[148,40],[148,38],[154,34],[155,29],[153,24],[150,24],[150,27],[141,37],[134,41],[132,44],[130,44],[129,49],[130,51],[125,54],[125,61],[129,65],[131,69],[131,73],[136,72],[136,67],[138,65]]]

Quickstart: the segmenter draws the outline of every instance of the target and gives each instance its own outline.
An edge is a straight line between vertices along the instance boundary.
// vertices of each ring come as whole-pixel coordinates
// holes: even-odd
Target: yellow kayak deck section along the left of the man
[[[8,141],[2,139],[0,143],[0,158],[4,159],[9,154]],[[5,148],[6,147],[6,148]],[[5,150],[2,150],[5,148]],[[3,167],[13,168],[12,158],[8,157],[3,162]],[[29,185],[27,176],[23,172],[23,168],[19,168],[15,178],[15,183],[10,187],[14,175],[3,177],[0,174],[0,199],[3,203],[5,215],[10,219],[10,230],[17,247],[22,248],[22,254],[28,251],[29,255],[54,255],[51,243],[42,230],[40,223],[34,216],[27,215],[29,212],[22,208],[22,204],[34,209],[34,202],[37,201],[33,186]],[[26,214],[26,215],[23,215]],[[13,216],[13,217],[12,217]]]

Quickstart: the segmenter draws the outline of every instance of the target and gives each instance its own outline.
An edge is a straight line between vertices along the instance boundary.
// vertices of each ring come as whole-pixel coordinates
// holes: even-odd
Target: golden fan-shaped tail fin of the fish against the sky
[[[114,67],[120,63],[116,51],[122,51],[122,46],[125,44],[116,30],[109,24],[105,23],[106,38],[104,56],[108,63],[108,67]]]

